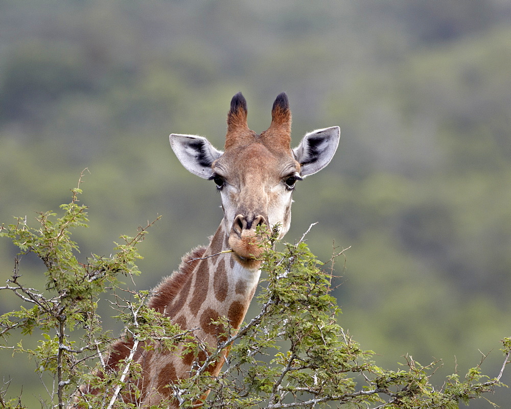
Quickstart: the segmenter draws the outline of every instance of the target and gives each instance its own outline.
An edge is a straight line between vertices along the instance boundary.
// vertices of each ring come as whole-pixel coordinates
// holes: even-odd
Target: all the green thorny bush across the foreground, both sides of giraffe
[[[49,400],[46,407],[65,407],[83,382],[90,382],[108,391],[101,396],[87,396],[99,407],[131,407],[119,399],[128,388],[129,379],[140,375],[140,367],[131,354],[117,373],[103,378],[94,376],[104,367],[103,354],[111,335],[101,326],[97,315],[99,297],[105,292],[115,295],[114,307],[119,319],[133,336],[134,348],[138,342],[146,347],[162,343],[172,349],[177,342],[191,341],[193,336],[182,333],[167,317],[148,308],[145,301],[150,292],[120,291],[120,276],[140,274],[135,261],[141,256],[136,250],[154,223],[139,228],[134,237],[121,236],[116,253],[109,257],[91,255],[85,262],[77,259],[78,245],[71,240],[71,229],[84,227],[86,206],[77,199],[81,193],[78,184],[72,189],[71,203],[62,205],[63,215],[40,213],[37,228],[29,227],[26,219],[0,228],[0,235],[9,237],[19,248],[19,254],[34,253],[46,268],[44,291],[30,288],[19,275],[19,258],[15,269],[2,291],[11,291],[20,297],[26,307],[0,317],[0,335],[8,345],[8,335],[14,330],[21,334],[41,331],[35,349],[26,349],[22,340],[14,351],[34,358],[36,371],[49,374],[45,384]],[[305,235],[304,235],[305,236]],[[320,407],[329,403],[349,407],[432,408],[458,407],[483,393],[501,386],[500,378],[509,360],[511,339],[503,340],[505,360],[495,378],[481,374],[479,365],[462,377],[453,374],[442,387],[430,383],[437,363],[427,366],[406,356],[399,371],[377,367],[371,360],[372,351],[361,350],[357,342],[337,324],[340,312],[332,290],[333,263],[339,252],[323,264],[309,251],[304,237],[296,244],[280,245],[275,250],[274,238],[265,243],[263,262],[264,288],[260,291],[259,314],[238,331],[227,332],[215,353],[206,356],[202,365],[192,368],[191,376],[171,385],[173,398],[182,407],[193,407],[198,397],[207,407]],[[71,332],[77,331],[79,336]],[[230,354],[221,374],[208,376],[208,365],[224,348]],[[43,379],[43,378],[41,378]],[[48,379],[48,378],[45,378]],[[137,393],[130,387],[130,393]],[[90,404],[90,403],[89,403]],[[1,407],[24,407],[21,397],[8,398],[7,390],[0,391]]]

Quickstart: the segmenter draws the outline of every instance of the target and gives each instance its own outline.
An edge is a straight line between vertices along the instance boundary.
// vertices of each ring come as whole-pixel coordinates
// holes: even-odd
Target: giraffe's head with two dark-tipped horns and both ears
[[[289,230],[295,183],[323,169],[339,143],[339,127],[318,129],[291,149],[291,111],[287,95],[276,98],[270,127],[257,134],[247,126],[247,103],[241,92],[230,103],[224,151],[202,136],[171,134],[177,158],[193,174],[213,180],[222,197],[224,228],[235,259],[258,269],[262,249],[257,226]]]

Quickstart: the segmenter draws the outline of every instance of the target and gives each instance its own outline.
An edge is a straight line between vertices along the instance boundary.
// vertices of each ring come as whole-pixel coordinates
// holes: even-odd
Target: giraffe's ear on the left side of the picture
[[[212,176],[211,165],[223,152],[215,149],[202,136],[171,134],[170,146],[181,164],[194,175],[208,179]]]

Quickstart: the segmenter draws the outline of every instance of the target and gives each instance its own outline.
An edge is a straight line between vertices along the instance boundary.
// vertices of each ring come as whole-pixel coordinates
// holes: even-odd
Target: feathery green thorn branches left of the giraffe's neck
[[[46,385],[49,406],[64,406],[77,383],[89,372],[85,361],[97,356],[111,342],[111,334],[102,329],[97,315],[99,296],[119,287],[120,274],[129,277],[140,274],[135,264],[141,258],[136,245],[142,242],[152,224],[140,228],[134,237],[121,236],[124,243],[115,247],[113,255],[100,257],[93,254],[85,263],[78,261],[79,249],[71,239],[71,230],[87,226],[87,207],[78,201],[79,185],[71,190],[71,202],[61,206],[63,215],[60,218],[54,212],[45,212],[39,214],[37,228],[30,227],[24,218],[17,218],[16,224],[0,228],[0,236],[9,237],[20,250],[12,277],[0,290],[13,292],[24,305],[30,306],[22,305],[19,310],[0,316],[1,347],[6,347],[8,336],[15,330],[20,330],[22,335],[42,331],[35,348],[25,348],[19,341],[13,351],[34,358],[36,371],[51,375],[51,383]],[[19,274],[19,257],[28,253],[36,254],[44,263],[45,291],[27,286]],[[135,325],[147,336],[145,326],[139,327],[136,322],[135,311],[142,309],[146,314],[144,320],[148,322],[153,319],[154,311],[144,306],[145,297],[136,298],[135,303],[118,305],[131,310],[135,317],[131,326]],[[161,325],[151,326],[151,331],[159,334],[170,323]],[[127,328],[129,331],[129,323]],[[73,340],[69,334],[76,329],[81,330],[79,340]],[[172,329],[175,332],[174,326]]]

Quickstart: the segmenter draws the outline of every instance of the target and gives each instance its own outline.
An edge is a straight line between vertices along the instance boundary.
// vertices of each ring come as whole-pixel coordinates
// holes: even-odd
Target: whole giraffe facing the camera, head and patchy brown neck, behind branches
[[[170,145],[181,164],[216,184],[224,215],[210,243],[183,256],[179,269],[154,289],[149,306],[171,317],[181,329],[194,329],[206,351],[216,349],[225,339],[225,328],[213,322],[225,318],[230,331],[237,331],[254,295],[263,251],[255,235],[257,226],[278,226],[278,238],[286,234],[296,182],[323,169],[339,142],[339,127],[331,127],[306,134],[298,147],[291,149],[291,111],[284,92],[275,99],[271,116],[266,131],[256,134],[250,130],[247,103],[239,92],[227,114],[223,152],[202,136],[170,135]],[[113,343],[106,369],[118,370],[133,346],[129,338]],[[219,374],[227,351],[222,354],[208,367],[212,376]],[[192,366],[205,361],[206,352],[185,353],[181,349],[181,353],[170,353],[139,346],[133,359],[142,366],[137,381],[141,397],[137,400],[127,393],[122,399],[145,407],[172,400],[169,385],[190,376]],[[82,387],[82,392],[86,390]],[[177,400],[173,402],[172,407],[178,407]]]

